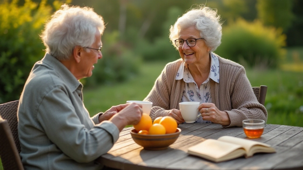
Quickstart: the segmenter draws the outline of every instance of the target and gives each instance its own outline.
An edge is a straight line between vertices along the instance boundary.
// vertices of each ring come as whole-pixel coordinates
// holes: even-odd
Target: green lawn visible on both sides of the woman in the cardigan
[[[144,63],[142,73],[125,83],[84,88],[84,103],[91,116],[127,100],[143,100],[167,62]],[[252,86],[266,85],[265,106],[270,124],[303,127],[303,74],[283,70],[247,69]]]

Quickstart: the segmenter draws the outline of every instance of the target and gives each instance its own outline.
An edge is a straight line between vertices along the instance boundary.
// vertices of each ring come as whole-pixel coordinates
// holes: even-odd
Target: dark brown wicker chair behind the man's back
[[[19,100],[0,104],[0,157],[4,170],[24,170],[19,155],[18,103]]]

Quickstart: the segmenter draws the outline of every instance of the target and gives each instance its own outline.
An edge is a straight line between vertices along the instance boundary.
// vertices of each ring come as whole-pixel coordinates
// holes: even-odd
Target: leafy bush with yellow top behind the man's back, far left
[[[62,4],[54,1],[51,7],[46,2],[25,0],[18,6],[18,0],[5,0],[0,4],[0,103],[19,99],[33,64],[44,56],[39,34],[53,8]]]

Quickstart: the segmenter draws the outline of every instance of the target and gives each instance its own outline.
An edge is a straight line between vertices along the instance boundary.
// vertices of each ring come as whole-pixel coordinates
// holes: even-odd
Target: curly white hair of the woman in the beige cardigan
[[[220,15],[216,9],[200,5],[185,12],[174,25],[169,28],[169,38],[172,44],[178,49],[175,40],[178,39],[180,29],[186,29],[191,26],[200,31],[201,38],[205,39],[205,43],[213,52],[221,44],[222,27]]]

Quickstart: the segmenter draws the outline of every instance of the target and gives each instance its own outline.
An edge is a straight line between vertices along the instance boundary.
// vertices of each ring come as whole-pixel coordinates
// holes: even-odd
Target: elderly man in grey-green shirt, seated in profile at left
[[[46,54],[32,68],[18,107],[25,169],[102,169],[94,160],[108,152],[142,106],[112,106],[90,118],[82,84],[102,58],[103,18],[92,8],[62,5],[45,25]],[[101,99],[96,99],[102,101]]]

